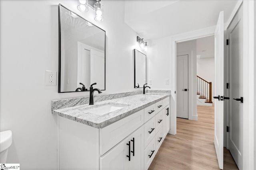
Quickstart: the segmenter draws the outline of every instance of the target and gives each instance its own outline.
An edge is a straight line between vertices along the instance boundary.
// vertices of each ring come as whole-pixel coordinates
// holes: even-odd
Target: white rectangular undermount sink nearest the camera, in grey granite
[[[121,105],[113,105],[113,104],[109,104],[109,105],[104,105],[104,106],[100,106],[100,107],[96,107],[93,109],[86,109],[84,110],[84,112],[86,113],[94,113],[96,115],[104,115],[106,113],[110,113],[112,111],[118,110],[118,109],[122,109],[125,106],[121,106]]]

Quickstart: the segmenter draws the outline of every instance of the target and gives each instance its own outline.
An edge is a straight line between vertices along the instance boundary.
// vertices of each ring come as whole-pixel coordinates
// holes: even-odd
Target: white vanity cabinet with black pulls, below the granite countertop
[[[58,117],[58,169],[148,169],[170,129],[170,97],[97,129]]]

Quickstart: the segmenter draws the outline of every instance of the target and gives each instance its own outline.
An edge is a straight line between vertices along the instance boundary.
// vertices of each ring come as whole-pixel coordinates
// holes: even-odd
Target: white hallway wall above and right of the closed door
[[[197,120],[196,40],[177,43],[176,53],[177,56],[188,55],[188,119]]]

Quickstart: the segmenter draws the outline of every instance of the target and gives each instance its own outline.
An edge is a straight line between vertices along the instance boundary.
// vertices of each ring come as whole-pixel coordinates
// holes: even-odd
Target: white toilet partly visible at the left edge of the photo
[[[8,148],[12,145],[12,131],[0,132],[0,163],[6,163]]]

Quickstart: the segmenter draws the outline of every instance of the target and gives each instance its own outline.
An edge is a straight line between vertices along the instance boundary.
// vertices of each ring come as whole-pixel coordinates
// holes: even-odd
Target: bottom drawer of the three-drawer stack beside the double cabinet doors
[[[148,147],[144,150],[144,169],[148,169],[150,166],[152,160],[154,159],[156,155],[156,143],[155,143],[155,137],[154,139],[150,142]]]

